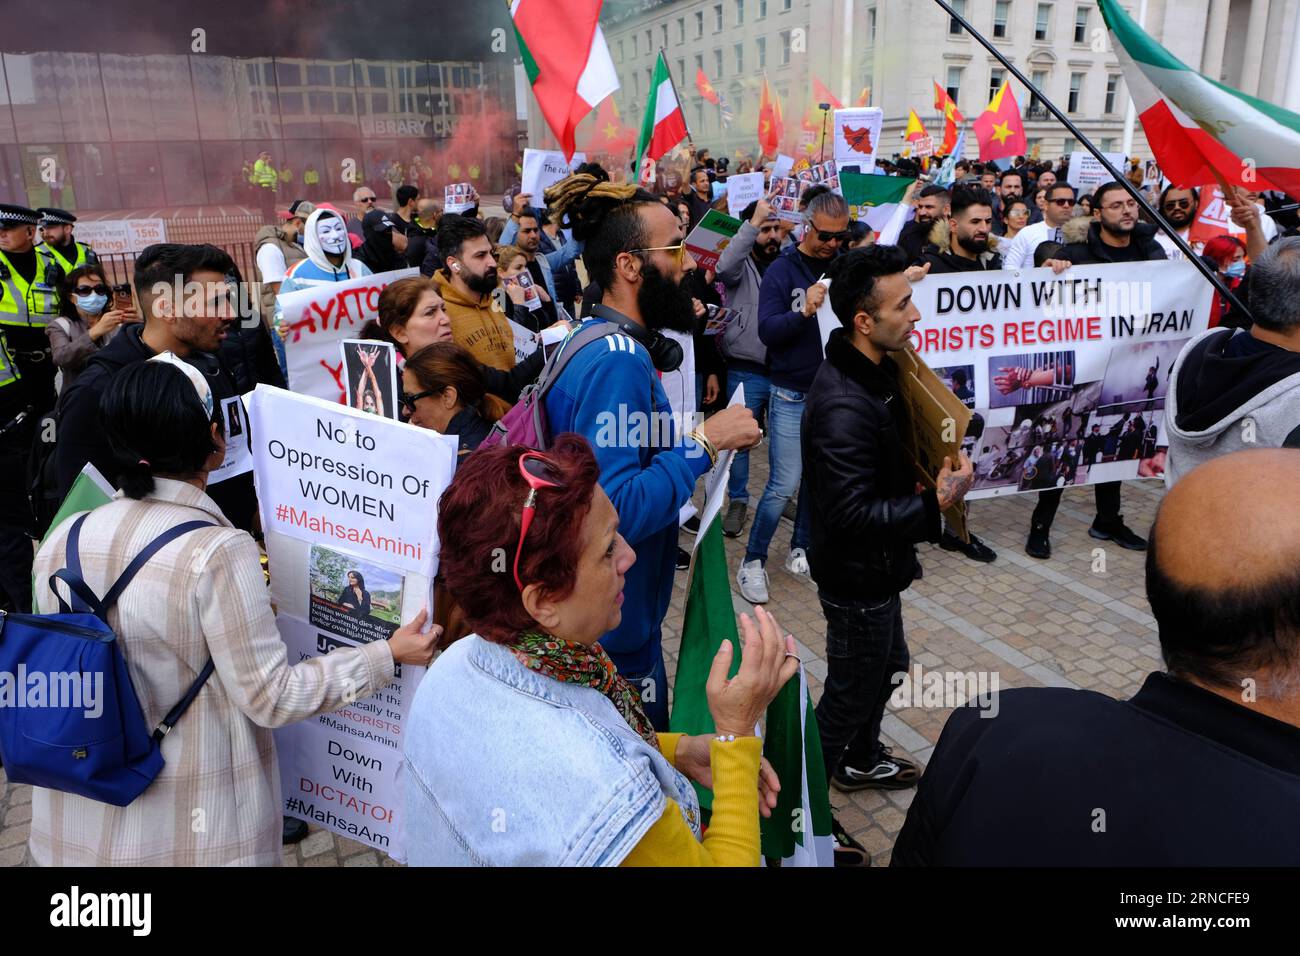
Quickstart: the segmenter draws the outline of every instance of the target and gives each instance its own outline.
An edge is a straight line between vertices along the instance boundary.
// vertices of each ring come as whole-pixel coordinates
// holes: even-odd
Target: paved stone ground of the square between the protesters
[[[750,515],[767,479],[764,444],[750,468]],[[1160,481],[1126,481],[1127,524],[1145,536],[1164,494]],[[1053,557],[1024,554],[1035,494],[1017,494],[971,505],[971,529],[997,550],[997,561],[979,564],[961,554],[922,545],[924,579],[904,593],[904,620],[914,662],[926,670],[988,671],[1001,688],[1080,687],[1128,697],[1161,666],[1156,624],[1147,606],[1143,554],[1088,537],[1095,514],[1092,490],[1066,492],[1052,533]],[[826,622],[816,588],[807,578],[784,570],[793,525],[783,520],[768,555],[771,602],[783,628],[803,645],[814,697],[826,678]],[[728,564],[737,610],[748,610],[734,572],[745,553],[749,524],[740,538],[727,540]],[[682,545],[693,538],[682,532]],[[1098,550],[1098,548],[1101,550]],[[685,572],[679,572],[672,607],[664,622],[664,654],[670,674],[676,666]],[[946,709],[889,710],[885,743],[924,763],[948,719]],[[840,821],[885,865],[914,791],[854,795],[831,792]],[[0,866],[26,861],[31,790],[9,784],[0,771]],[[296,847],[285,849],[289,866],[395,865],[352,840],[312,829]]]

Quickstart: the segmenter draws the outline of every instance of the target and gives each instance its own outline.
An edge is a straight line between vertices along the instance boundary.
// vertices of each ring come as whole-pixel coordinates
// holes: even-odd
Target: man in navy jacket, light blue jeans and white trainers
[[[826,286],[819,280],[852,235],[849,207],[835,193],[823,193],[809,203],[803,221],[803,238],[767,267],[758,293],[758,337],[767,346],[772,382],[767,407],[771,470],[754,512],[745,561],[736,574],[740,593],[750,604],[767,604],[767,548],[803,468],[800,458],[803,395],[823,359],[816,310],[826,299]],[[809,572],[810,527],[809,505],[801,494],[790,554],[785,559],[790,574]]]

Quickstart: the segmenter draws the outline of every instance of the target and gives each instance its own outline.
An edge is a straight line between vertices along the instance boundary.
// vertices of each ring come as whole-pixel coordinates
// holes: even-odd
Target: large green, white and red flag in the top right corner
[[[1222,179],[1300,196],[1300,114],[1190,69],[1118,3],[1098,1],[1147,140],[1171,182]]]

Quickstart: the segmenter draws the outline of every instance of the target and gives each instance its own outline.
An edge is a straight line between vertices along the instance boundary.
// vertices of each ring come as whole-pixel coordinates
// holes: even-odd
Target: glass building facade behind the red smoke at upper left
[[[246,164],[263,150],[281,204],[363,182],[387,199],[394,160],[426,195],[515,177],[508,61],[38,52],[0,66],[0,202],[250,204]]]

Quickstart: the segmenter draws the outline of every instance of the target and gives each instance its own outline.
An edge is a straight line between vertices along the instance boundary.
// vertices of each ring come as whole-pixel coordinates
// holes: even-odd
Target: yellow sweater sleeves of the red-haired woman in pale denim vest
[[[660,734],[659,752],[676,766],[681,734]],[[714,771],[714,813],[703,840],[681,818],[677,803],[663,813],[623,860],[624,866],[758,866],[758,765],[763,741],[740,737],[708,744]]]

